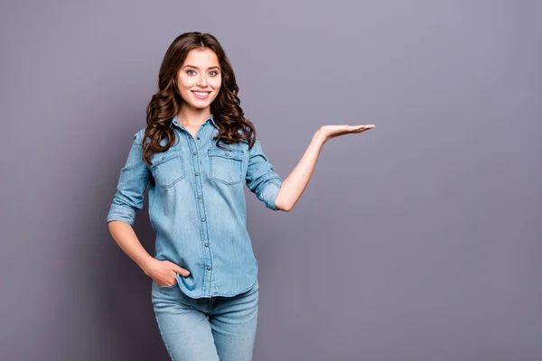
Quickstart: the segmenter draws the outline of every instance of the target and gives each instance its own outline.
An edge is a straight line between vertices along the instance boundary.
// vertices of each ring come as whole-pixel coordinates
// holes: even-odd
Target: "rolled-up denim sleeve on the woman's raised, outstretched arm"
[[[256,142],[249,150],[246,180],[248,189],[266,204],[266,208],[279,210],[275,206],[275,201],[283,180],[268,161],[259,138],[256,138]]]

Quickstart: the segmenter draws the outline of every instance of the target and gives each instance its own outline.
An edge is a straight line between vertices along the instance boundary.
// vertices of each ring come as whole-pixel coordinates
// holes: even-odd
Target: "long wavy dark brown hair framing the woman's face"
[[[183,102],[178,89],[176,78],[179,69],[192,49],[208,48],[219,58],[222,71],[222,84],[217,97],[210,104],[210,112],[219,126],[219,134],[213,138],[219,148],[225,148],[222,143],[248,142],[252,148],[256,141],[256,128],[245,118],[238,98],[238,85],[235,73],[220,42],[210,33],[184,32],[179,35],[165,51],[164,60],[158,75],[158,91],[146,106],[146,128],[144,139],[150,140],[143,144],[143,157],[146,164],[154,153],[165,152],[175,142],[175,131],[170,127],[173,117],[178,114]],[[167,143],[160,145],[167,137]]]

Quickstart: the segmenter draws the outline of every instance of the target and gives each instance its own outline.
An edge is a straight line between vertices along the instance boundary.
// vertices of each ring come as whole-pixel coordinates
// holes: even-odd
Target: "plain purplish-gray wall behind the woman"
[[[105,218],[164,52],[211,32],[287,177],[247,189],[255,360],[542,359],[539,2],[11,1],[0,8],[0,359],[166,360]],[[146,208],[135,232],[150,252]]]

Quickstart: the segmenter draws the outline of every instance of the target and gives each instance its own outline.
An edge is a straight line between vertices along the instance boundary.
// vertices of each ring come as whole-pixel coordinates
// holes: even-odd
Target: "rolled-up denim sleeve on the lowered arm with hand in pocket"
[[[134,134],[126,164],[120,170],[117,191],[107,213],[107,223],[120,220],[133,225],[135,212],[143,208],[144,193],[149,181],[149,170],[143,162],[143,134],[144,130]]]

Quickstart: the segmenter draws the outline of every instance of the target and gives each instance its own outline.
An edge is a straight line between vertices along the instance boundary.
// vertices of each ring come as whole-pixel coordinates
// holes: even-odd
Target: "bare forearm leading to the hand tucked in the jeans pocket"
[[[126,222],[114,220],[107,223],[109,233],[117,242],[117,245],[130,257],[146,274],[149,265],[154,261],[154,257],[149,255],[143,245],[135,236],[134,228]]]

